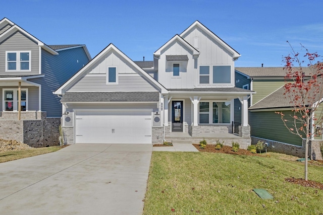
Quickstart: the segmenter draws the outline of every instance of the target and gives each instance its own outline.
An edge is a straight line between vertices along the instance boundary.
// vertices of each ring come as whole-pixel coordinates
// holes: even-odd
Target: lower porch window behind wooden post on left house
[[[3,110],[18,111],[19,107],[18,89],[3,89]],[[21,89],[21,111],[28,110],[28,89]]]

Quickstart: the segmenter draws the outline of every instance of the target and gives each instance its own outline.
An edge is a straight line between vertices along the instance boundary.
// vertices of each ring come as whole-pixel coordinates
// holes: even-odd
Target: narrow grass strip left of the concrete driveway
[[[56,152],[60,149],[62,149],[62,147],[44,147],[44,148],[36,148],[36,149],[28,149],[28,150],[0,152],[0,163],[32,157],[36,155],[42,155],[42,154],[51,153],[51,152]]]

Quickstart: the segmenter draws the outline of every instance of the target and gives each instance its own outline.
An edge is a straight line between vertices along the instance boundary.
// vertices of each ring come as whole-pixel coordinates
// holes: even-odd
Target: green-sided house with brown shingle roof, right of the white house
[[[305,80],[310,75],[310,69],[304,67]],[[257,92],[249,99],[249,125],[252,143],[258,140],[267,142],[268,151],[285,153],[303,157],[305,155],[304,140],[292,134],[285,127],[280,115],[293,114],[289,99],[285,98],[284,67],[236,67],[236,87]],[[235,121],[239,121],[241,104],[235,101]],[[292,126],[292,125],[291,125]],[[313,128],[312,133],[315,133]],[[311,138],[310,153],[316,159],[321,159],[318,134]]]

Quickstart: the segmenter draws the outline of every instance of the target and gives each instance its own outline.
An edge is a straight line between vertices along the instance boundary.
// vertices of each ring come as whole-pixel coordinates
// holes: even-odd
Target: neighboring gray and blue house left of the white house
[[[90,60],[85,45],[46,45],[2,19],[0,138],[34,147],[58,145],[62,104],[53,91]]]

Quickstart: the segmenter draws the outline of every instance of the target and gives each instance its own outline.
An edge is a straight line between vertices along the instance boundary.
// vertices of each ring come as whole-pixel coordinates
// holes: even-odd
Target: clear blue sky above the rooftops
[[[321,0],[11,0],[1,3],[0,19],[47,45],[86,44],[94,57],[113,43],[132,60],[152,60],[198,20],[241,54],[236,66],[283,66],[286,40],[323,55],[322,8]]]

